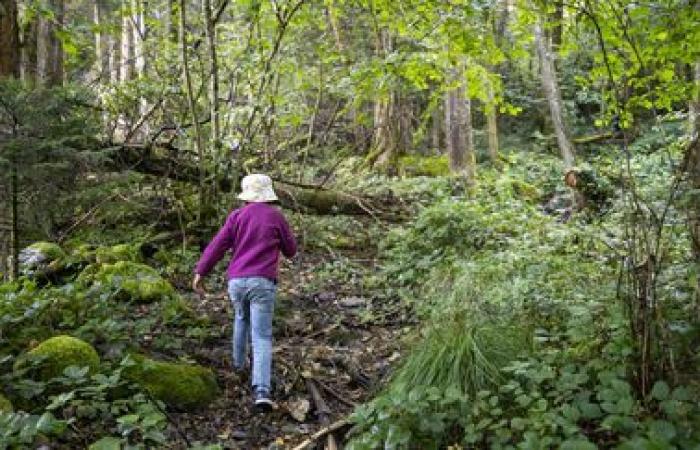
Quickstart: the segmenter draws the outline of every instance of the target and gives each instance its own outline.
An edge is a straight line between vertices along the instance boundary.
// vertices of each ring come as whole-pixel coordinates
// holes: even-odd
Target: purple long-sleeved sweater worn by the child
[[[233,211],[207,245],[195,272],[205,276],[231,250],[226,276],[277,279],[279,252],[287,258],[297,252],[297,243],[282,213],[267,203],[249,203]]]

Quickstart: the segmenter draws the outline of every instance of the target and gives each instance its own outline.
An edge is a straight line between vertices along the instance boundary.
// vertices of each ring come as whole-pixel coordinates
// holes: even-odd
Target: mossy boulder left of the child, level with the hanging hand
[[[175,296],[173,286],[158,271],[132,261],[88,266],[78,281],[93,289],[113,292],[121,301],[151,303]]]

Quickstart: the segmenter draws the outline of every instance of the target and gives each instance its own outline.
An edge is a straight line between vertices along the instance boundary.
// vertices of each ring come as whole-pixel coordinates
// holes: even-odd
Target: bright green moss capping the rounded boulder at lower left
[[[100,366],[97,352],[85,341],[72,336],[54,336],[27,352],[15,363],[15,369],[26,367],[30,360],[40,359],[36,376],[49,380],[63,374],[68,366],[89,367],[95,372]]]

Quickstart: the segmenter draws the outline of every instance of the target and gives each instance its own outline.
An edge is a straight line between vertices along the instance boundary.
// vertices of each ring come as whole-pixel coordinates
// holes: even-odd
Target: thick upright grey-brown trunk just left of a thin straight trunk
[[[449,79],[453,86],[445,95],[445,141],[450,172],[473,183],[475,159],[471,101],[467,96],[468,86],[463,63],[451,69]]]

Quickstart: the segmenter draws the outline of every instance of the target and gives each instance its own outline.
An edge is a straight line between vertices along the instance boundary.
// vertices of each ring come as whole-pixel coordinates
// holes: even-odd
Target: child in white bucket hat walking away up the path
[[[235,309],[233,364],[244,367],[246,341],[250,331],[253,348],[254,406],[272,409],[270,372],[272,367],[272,314],[277,289],[280,251],[292,258],[297,251],[294,235],[282,213],[269,202],[277,200],[272,180],[254,174],[243,178],[238,196],[245,206],[233,211],[204,250],[195,268],[192,288],[202,295],[202,279],[227,250],[231,262],[226,275],[228,292]]]

